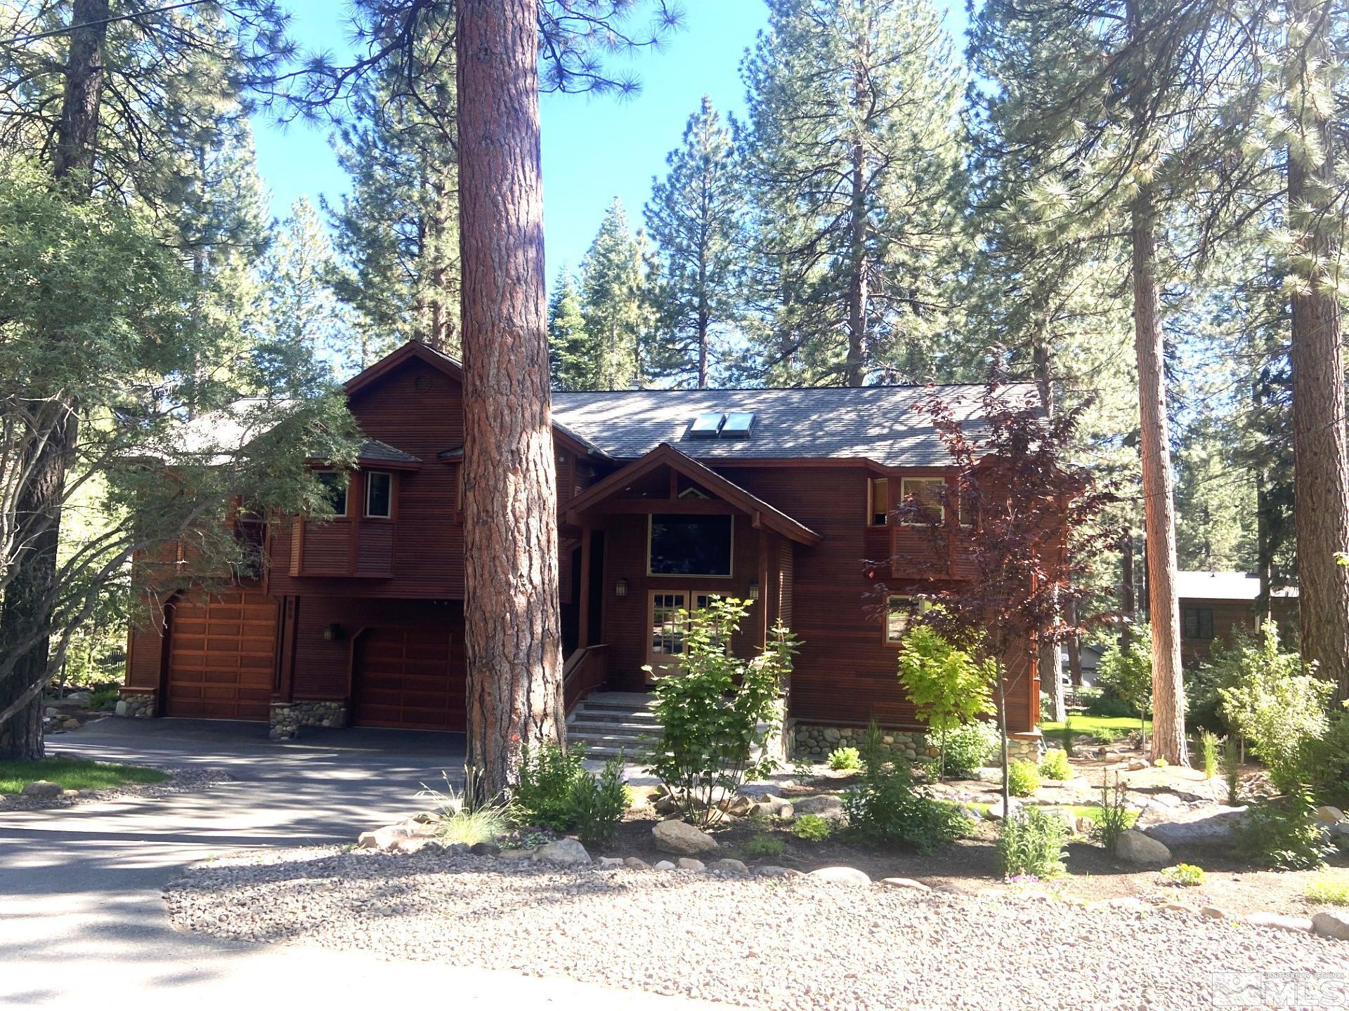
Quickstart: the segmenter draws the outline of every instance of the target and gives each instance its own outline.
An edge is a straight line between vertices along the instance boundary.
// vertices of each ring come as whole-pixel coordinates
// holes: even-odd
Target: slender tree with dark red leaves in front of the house
[[[979,422],[959,419],[956,411],[967,406],[932,396],[916,408],[950,454],[955,481],[947,484],[946,515],[967,523],[959,550],[974,568],[956,589],[927,594],[938,605],[927,620],[997,667],[993,701],[1006,810],[1008,683],[1029,677],[1037,642],[1078,631],[1060,619],[1067,603],[1082,599],[1091,559],[1118,541],[1101,522],[1116,495],[1071,460],[1085,406],[1048,418],[1036,394],[1018,396],[998,386],[981,395],[973,412]],[[916,507],[905,503],[901,511]],[[1018,652],[1025,665],[1009,665]]]

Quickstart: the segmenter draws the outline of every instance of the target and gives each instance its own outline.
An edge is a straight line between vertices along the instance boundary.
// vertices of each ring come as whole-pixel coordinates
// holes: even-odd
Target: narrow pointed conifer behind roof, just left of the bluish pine
[[[581,317],[591,359],[583,373],[585,388],[626,390],[646,379],[650,307],[643,249],[642,236],[629,229],[615,198],[581,260]]]

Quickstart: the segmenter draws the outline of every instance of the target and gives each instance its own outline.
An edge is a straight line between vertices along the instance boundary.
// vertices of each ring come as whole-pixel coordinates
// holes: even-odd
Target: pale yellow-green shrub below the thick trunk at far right
[[[1306,758],[1311,741],[1330,729],[1326,702],[1334,685],[1304,673],[1302,656],[1279,651],[1279,630],[1271,621],[1263,638],[1240,650],[1241,679],[1218,689],[1222,714],[1251,743],[1280,793],[1294,793],[1309,779]]]

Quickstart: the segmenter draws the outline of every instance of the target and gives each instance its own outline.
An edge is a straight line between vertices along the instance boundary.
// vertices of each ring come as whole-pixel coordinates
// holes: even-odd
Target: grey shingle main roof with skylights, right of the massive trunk
[[[608,456],[633,460],[668,442],[700,460],[866,458],[882,466],[943,466],[951,457],[915,406],[934,395],[977,422],[982,386],[869,386],[805,390],[631,390],[553,394],[553,417]],[[1029,383],[1002,387],[1009,398]],[[706,411],[753,411],[747,439],[687,438]],[[971,431],[978,425],[971,426]]]

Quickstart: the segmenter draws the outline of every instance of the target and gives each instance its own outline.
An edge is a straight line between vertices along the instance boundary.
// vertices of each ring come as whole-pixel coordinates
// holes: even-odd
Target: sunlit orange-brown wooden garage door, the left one
[[[167,716],[271,717],[277,601],[252,590],[181,599],[169,623]]]

